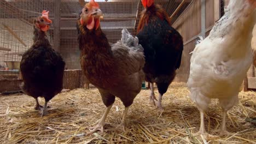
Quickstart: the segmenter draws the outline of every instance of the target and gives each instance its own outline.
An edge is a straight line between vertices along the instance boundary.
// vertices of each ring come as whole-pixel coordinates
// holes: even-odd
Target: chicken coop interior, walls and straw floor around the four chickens
[[[244,92],[239,93],[238,106],[234,106],[227,118],[228,130],[234,135],[205,140],[202,135],[194,137],[192,134],[199,128],[201,115],[188,96],[186,83],[190,58],[199,37],[205,39],[210,34],[230,1],[233,0],[155,0],[155,4],[166,10],[172,27],[183,38],[181,65],[162,100],[165,111],[156,111],[155,106],[145,104],[149,89],[143,89],[129,111],[131,126],[127,133],[116,132],[109,124],[121,121],[123,103],[116,98],[117,104],[110,111],[114,114],[108,116],[106,122],[107,132],[87,136],[87,128],[95,124],[95,118],[100,118],[103,107],[96,87],[90,85],[90,89],[85,89],[88,81],[80,67],[77,22],[84,5],[90,0],[0,0],[0,143],[255,143],[256,93],[253,91],[256,89],[256,72],[253,65],[243,80]],[[141,0],[95,2],[103,13],[100,27],[110,45],[121,39],[123,28],[132,35],[137,34],[144,10]],[[46,32],[47,38],[66,65],[63,75],[65,91],[50,103],[53,105],[49,108],[50,115],[41,118],[31,108],[34,100],[16,93],[21,93],[21,58],[34,43],[34,20],[42,16],[43,10],[49,11],[49,19],[53,21]],[[252,48],[256,50],[256,26]],[[222,116],[219,109],[210,107],[213,110],[205,118],[209,122],[208,131],[220,127]]]

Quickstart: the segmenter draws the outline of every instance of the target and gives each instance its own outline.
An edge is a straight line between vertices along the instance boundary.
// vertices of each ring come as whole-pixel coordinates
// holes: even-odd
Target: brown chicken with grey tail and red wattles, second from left
[[[125,130],[126,116],[133,99],[141,91],[144,79],[143,48],[138,39],[131,37],[126,29],[122,39],[111,46],[100,27],[102,12],[98,3],[91,0],[85,4],[77,21],[80,63],[86,78],[98,88],[102,101],[106,105],[100,122],[89,129],[92,134],[103,132],[106,117],[113,106],[115,97],[125,106],[123,120],[118,128]]]

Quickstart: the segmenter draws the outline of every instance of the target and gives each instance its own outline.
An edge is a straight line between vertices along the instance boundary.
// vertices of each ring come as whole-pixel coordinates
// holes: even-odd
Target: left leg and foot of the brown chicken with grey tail
[[[101,133],[103,133],[103,127],[105,125],[106,118],[107,118],[108,113],[109,113],[112,106],[113,106],[113,104],[106,108],[105,112],[103,113],[103,115],[101,117],[100,122],[95,127],[89,127],[89,129],[90,130],[92,129],[92,130],[89,133],[87,133],[86,135],[90,135],[92,133],[95,133],[98,130],[100,130]]]

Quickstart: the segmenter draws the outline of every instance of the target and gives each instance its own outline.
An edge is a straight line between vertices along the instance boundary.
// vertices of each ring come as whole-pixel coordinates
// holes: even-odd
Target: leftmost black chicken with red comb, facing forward
[[[48,19],[49,11],[34,20],[33,45],[23,55],[20,70],[23,77],[22,91],[36,99],[36,110],[43,106],[38,103],[38,97],[44,97],[45,104],[42,116],[47,111],[47,103],[62,90],[62,78],[65,62],[60,54],[50,45],[46,31],[50,28],[51,20]]]

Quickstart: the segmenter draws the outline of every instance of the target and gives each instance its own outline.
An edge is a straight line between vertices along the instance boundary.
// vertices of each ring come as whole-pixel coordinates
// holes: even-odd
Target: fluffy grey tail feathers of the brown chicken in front
[[[122,30],[121,41],[129,46],[131,49],[143,52],[143,47],[138,44],[138,38],[133,37],[126,28]]]

